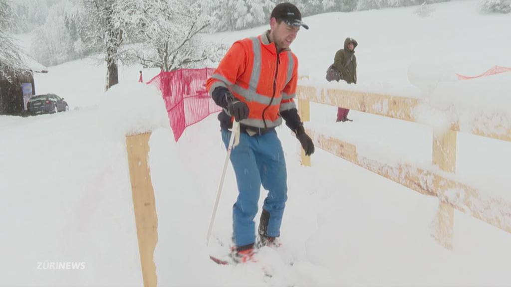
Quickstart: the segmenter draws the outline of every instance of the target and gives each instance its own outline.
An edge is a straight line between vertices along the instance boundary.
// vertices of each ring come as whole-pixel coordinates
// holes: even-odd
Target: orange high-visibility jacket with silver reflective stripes
[[[248,105],[248,118],[240,124],[271,128],[282,124],[281,111],[296,108],[297,79],[296,56],[290,50],[277,55],[275,44],[263,34],[235,42],[206,87],[210,95],[216,87],[226,87]]]

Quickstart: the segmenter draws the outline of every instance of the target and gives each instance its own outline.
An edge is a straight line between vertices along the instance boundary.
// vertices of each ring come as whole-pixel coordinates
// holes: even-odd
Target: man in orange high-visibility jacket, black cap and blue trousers
[[[233,206],[233,229],[238,262],[251,260],[254,248],[278,246],[275,238],[287,201],[287,171],[281,141],[275,127],[282,118],[296,134],[307,155],[314,153],[312,139],[305,133],[293,101],[298,79],[298,59],[289,50],[301,27],[298,9],[278,4],[271,12],[270,30],[258,37],[235,42],[215,73],[207,90],[223,108],[219,114],[222,140],[227,148],[233,121],[240,123],[240,143],[230,154],[238,183]],[[281,118],[282,117],[282,118]],[[255,244],[255,223],[261,184],[268,190]]]

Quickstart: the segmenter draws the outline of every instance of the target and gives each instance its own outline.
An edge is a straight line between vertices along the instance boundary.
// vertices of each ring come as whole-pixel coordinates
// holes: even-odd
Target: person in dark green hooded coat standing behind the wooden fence
[[[344,40],[344,49],[341,49],[335,53],[334,63],[332,68],[338,71],[338,80],[344,80],[348,84],[357,83],[357,57],[355,57],[355,48],[358,43],[353,38],[346,38]],[[349,109],[338,108],[337,109],[337,122],[346,122],[351,119],[347,118]]]

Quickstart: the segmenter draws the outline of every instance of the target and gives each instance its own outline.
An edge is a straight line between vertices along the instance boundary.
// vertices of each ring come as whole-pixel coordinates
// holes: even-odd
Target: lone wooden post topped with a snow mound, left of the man
[[[151,133],[144,133],[126,137],[131,194],[144,287],[156,287],[157,285],[153,256],[158,241],[158,218],[147,163],[150,136]]]

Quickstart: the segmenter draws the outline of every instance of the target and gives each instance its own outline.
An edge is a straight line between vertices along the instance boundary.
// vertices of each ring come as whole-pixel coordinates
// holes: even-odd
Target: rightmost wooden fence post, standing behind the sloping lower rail
[[[456,136],[457,132],[448,130],[442,134],[433,133],[433,164],[440,170],[454,173],[456,171]],[[433,236],[438,244],[453,250],[454,208],[439,199],[438,211],[434,219]]]

